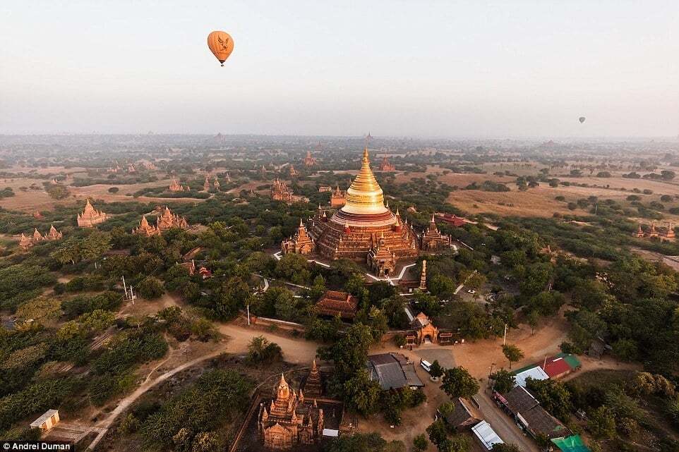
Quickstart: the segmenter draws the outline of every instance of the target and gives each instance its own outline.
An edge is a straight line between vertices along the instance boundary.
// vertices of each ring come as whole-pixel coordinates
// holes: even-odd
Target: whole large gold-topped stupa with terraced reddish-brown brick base
[[[384,203],[384,193],[370,168],[368,149],[361,169],[347,190],[344,206],[328,217],[319,207],[308,224],[316,252],[326,259],[365,262],[379,276],[390,276],[397,263],[418,255],[418,238],[411,227]]]

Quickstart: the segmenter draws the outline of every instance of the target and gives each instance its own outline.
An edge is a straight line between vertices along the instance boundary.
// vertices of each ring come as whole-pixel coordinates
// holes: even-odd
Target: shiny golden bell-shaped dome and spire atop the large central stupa
[[[349,214],[382,214],[389,210],[384,205],[382,188],[370,169],[367,147],[363,150],[361,170],[347,190],[346,202],[341,210]]]

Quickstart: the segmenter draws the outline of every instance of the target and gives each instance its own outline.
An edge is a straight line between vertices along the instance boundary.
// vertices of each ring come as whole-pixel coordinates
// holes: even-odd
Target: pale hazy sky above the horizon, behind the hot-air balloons
[[[679,1],[0,2],[0,133],[148,130],[675,137]]]

